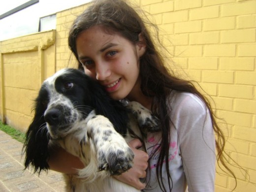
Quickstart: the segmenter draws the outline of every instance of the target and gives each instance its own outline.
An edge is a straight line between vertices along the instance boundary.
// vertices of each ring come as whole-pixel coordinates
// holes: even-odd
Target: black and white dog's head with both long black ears
[[[66,68],[46,79],[35,99],[34,118],[27,131],[25,167],[32,165],[35,172],[47,170],[50,138],[64,137],[92,110],[107,117],[119,133],[126,134],[125,107],[83,71]]]

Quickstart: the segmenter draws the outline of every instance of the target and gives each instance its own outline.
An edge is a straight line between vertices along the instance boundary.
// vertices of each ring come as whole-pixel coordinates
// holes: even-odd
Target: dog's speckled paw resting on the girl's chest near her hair
[[[156,132],[160,130],[159,119],[146,107],[135,101],[128,103],[127,107],[137,119],[138,125],[143,132]]]

